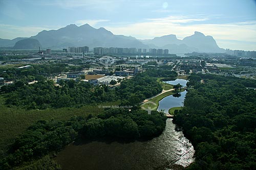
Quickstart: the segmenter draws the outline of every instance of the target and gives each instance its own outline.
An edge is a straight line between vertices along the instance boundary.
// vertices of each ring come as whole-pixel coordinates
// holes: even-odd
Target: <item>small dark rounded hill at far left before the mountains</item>
[[[41,47],[41,44],[37,39],[27,38],[27,39],[17,41],[13,46],[13,49],[34,50],[34,49],[38,49],[39,46]]]

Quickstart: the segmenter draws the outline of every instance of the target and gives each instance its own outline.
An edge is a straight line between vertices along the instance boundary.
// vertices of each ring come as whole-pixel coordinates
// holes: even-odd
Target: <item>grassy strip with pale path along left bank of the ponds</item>
[[[155,98],[145,102],[144,104],[141,104],[141,107],[144,107],[144,108],[150,107],[152,110],[157,110],[157,108],[159,106],[159,101],[161,101],[163,98],[165,98],[168,95],[172,95],[174,93],[182,92],[182,91],[185,91],[185,90],[181,89],[179,91],[174,91],[174,90],[173,91],[167,91],[167,92],[162,93],[162,94],[156,96]]]

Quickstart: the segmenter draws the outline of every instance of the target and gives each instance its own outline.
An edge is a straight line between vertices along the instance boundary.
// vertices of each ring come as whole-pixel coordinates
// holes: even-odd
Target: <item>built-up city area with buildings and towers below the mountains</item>
[[[67,64],[77,66],[78,71],[61,71],[58,74],[42,72],[41,76],[56,83],[60,81],[84,81],[93,85],[115,85],[124,78],[136,75],[144,68],[158,68],[167,65],[178,75],[189,75],[193,72],[217,74],[256,79],[256,52],[232,51],[225,54],[185,54],[186,57],[169,54],[165,49],[136,49],[118,47],[88,46],[63,48],[62,51],[51,49],[38,51],[2,51],[0,62],[3,68],[14,67],[28,69],[33,64]],[[1,68],[1,67],[0,67]],[[79,70],[80,69],[80,70]],[[8,69],[0,74],[1,85],[13,83],[8,76]],[[28,83],[36,82],[35,79]]]

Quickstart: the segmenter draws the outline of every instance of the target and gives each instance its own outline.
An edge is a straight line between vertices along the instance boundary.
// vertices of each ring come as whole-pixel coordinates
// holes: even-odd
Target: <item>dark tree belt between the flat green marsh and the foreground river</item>
[[[165,128],[164,113],[148,115],[140,109],[106,109],[96,117],[73,116],[68,121],[39,120],[16,138],[7,156],[0,160],[0,169],[31,164],[58,152],[77,138],[114,137],[125,139],[148,138],[161,134]],[[30,162],[29,162],[30,161]],[[29,163],[28,163],[29,162]],[[38,166],[42,166],[39,164]]]

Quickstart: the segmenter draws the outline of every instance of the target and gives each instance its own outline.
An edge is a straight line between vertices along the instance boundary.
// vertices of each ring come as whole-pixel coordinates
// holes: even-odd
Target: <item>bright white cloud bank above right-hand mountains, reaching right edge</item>
[[[244,21],[237,23],[223,23],[223,24],[205,24],[210,16],[169,16],[165,18],[146,19],[139,23],[132,23],[120,27],[105,27],[114,34],[131,35],[139,39],[149,39],[163,35],[176,34],[179,39],[194,34],[195,31],[211,35],[216,40],[239,40],[232,42],[232,46],[237,44],[245,46],[241,41],[256,42],[256,21]],[[199,21],[193,23],[194,21]],[[186,23],[186,25],[184,25]],[[217,41],[218,43],[218,41]],[[224,41],[218,43],[220,47],[228,48],[228,44]],[[250,49],[253,50],[253,45]],[[256,50],[256,46],[254,47]]]

